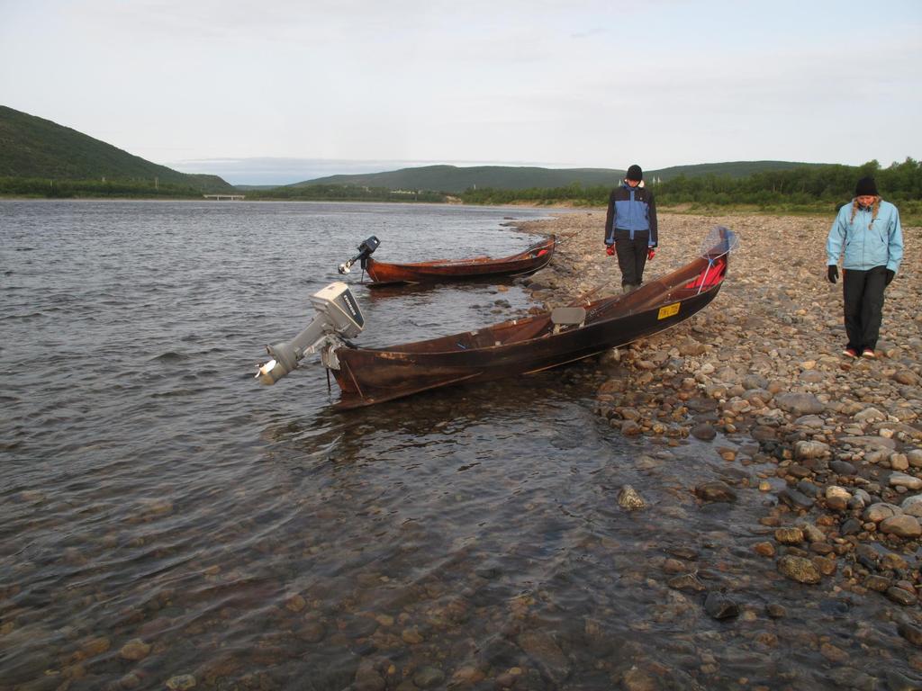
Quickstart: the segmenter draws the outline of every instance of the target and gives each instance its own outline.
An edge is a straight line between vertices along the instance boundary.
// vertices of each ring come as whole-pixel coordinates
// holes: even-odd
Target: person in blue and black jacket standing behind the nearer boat
[[[658,240],[653,193],[644,188],[644,171],[634,164],[624,182],[611,191],[605,218],[605,252],[618,254],[622,292],[630,293],[643,283],[644,267],[656,254]]]

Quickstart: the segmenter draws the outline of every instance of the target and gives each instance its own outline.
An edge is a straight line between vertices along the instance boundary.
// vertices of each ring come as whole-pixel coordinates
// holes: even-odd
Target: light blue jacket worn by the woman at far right
[[[826,264],[838,264],[839,256],[845,252],[845,269],[867,271],[886,266],[895,274],[903,261],[903,228],[896,206],[881,200],[873,223],[870,209],[859,208],[855,220],[851,218],[851,204],[839,209],[826,240]]]

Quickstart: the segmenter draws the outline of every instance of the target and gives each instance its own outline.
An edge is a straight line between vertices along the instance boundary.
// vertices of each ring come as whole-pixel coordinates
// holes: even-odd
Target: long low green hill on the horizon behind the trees
[[[685,175],[727,175],[743,178],[755,172],[766,170],[791,170],[805,164],[787,161],[736,161],[729,163],[703,163],[695,166],[676,166],[662,170],[647,170],[647,180],[659,178],[664,182]],[[287,187],[308,187],[311,185],[358,185],[384,187],[389,190],[433,190],[447,193],[461,193],[468,189],[489,187],[494,190],[527,190],[532,188],[552,189],[566,187],[578,182],[585,187],[614,185],[624,175],[624,170],[605,168],[515,168],[511,166],[423,166],[404,168],[379,173],[358,175],[330,175]]]

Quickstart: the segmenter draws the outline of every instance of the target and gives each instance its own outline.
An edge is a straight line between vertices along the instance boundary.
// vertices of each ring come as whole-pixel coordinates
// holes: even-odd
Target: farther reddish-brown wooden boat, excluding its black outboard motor
[[[372,279],[369,287],[395,283],[435,283],[495,278],[507,275],[525,275],[538,271],[550,262],[557,238],[545,240],[508,257],[474,257],[473,259],[440,259],[416,264],[388,264],[369,256],[362,260],[362,268]]]

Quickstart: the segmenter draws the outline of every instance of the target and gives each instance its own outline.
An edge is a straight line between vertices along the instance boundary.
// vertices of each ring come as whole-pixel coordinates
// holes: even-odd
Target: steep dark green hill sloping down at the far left
[[[0,106],[0,178],[55,181],[148,181],[233,192],[217,175],[188,175],[151,163],[50,120]]]

